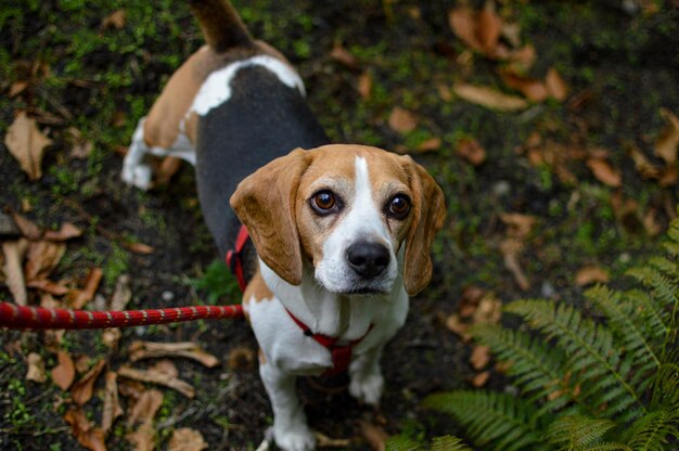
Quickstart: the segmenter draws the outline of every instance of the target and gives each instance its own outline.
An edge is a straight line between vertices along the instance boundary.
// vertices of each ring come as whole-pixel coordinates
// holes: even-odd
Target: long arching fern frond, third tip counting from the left
[[[572,306],[555,305],[549,300],[517,300],[504,308],[507,311],[522,315],[529,325],[556,339],[559,346],[568,356],[569,369],[578,381],[586,385],[606,388],[614,398],[601,390],[594,391],[585,387],[585,395],[595,408],[608,405],[602,414],[612,416],[623,409],[626,414],[637,415],[645,412],[637,389],[628,381],[630,365],[622,364],[620,351],[613,345],[611,332],[584,319]],[[617,386],[622,389],[613,389]],[[611,408],[613,405],[613,408]],[[629,409],[635,405],[635,409]]]

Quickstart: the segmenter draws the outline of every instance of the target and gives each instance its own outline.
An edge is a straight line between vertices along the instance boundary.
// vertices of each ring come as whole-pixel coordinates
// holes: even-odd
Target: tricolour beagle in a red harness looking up
[[[380,356],[431,279],[444,195],[408,156],[328,144],[290,63],[225,0],[191,7],[207,46],[140,120],[121,177],[148,189],[149,154],[195,165],[203,216],[245,281],[276,442],[310,450],[296,377],[347,371],[349,392],[379,403]]]

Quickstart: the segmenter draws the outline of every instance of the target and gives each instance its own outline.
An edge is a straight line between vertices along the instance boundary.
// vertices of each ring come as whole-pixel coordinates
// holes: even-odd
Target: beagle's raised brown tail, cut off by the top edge
[[[245,24],[227,0],[190,0],[189,5],[201,24],[205,41],[216,52],[253,44]]]

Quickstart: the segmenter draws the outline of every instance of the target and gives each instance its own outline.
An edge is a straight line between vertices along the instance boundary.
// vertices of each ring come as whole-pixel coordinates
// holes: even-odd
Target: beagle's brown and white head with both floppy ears
[[[446,214],[440,188],[410,157],[338,144],[269,163],[241,182],[231,206],[281,279],[298,285],[308,261],[338,294],[388,293],[399,275],[419,293]]]

